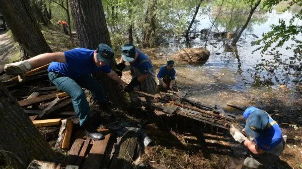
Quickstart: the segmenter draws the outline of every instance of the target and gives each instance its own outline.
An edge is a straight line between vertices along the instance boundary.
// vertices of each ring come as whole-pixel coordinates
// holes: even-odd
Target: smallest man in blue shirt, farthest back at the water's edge
[[[167,61],[167,65],[161,67],[158,73],[158,79],[160,81],[159,90],[163,92],[167,92],[168,90],[173,90],[172,86],[174,84],[176,71],[173,68],[174,61]]]

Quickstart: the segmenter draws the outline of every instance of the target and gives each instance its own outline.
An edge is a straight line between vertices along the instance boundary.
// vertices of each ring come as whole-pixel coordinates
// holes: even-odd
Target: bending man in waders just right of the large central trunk
[[[133,89],[141,90],[149,94],[155,94],[156,88],[156,67],[153,66],[152,61],[142,53],[140,50],[136,49],[133,44],[125,44],[122,47],[122,57],[120,63],[117,65],[117,69],[120,72],[125,68],[125,62],[130,63],[130,71],[132,80],[125,87],[125,91],[129,92],[130,101],[134,108],[141,108],[140,100],[138,99],[138,94],[133,93]],[[121,75],[121,74],[120,74]],[[152,97],[146,98],[146,110],[152,110]]]

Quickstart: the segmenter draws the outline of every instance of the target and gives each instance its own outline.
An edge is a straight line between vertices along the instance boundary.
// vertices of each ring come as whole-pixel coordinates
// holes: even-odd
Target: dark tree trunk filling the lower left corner
[[[4,160],[14,168],[27,168],[33,159],[53,161],[54,151],[2,82],[0,103],[0,151]]]

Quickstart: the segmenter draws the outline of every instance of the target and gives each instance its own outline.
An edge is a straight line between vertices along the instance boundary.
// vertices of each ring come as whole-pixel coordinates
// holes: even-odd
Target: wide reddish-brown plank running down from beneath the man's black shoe
[[[103,140],[94,140],[88,157],[84,160],[82,169],[98,169],[104,163],[102,161],[110,139],[110,133]]]

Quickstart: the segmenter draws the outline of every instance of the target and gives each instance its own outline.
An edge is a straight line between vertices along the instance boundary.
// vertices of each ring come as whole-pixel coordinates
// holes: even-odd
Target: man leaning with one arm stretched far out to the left
[[[93,93],[103,109],[108,108],[103,87],[90,74],[103,71],[108,77],[125,87],[125,82],[111,71],[109,63],[113,58],[113,50],[106,44],[100,44],[96,50],[75,48],[65,52],[45,53],[25,61],[7,64],[4,69],[7,74],[23,75],[31,68],[50,63],[48,77],[60,90],[72,97],[75,114],[80,119],[80,125],[92,139],[103,139],[103,134],[92,127],[90,107],[82,88]]]

